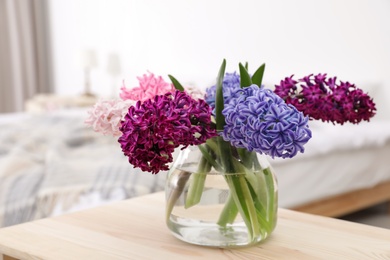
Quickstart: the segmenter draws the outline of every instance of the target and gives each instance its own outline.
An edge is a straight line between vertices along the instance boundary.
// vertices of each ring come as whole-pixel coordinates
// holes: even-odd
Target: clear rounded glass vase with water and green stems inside
[[[211,247],[266,239],[277,221],[278,193],[264,155],[221,137],[182,150],[168,173],[166,223],[177,238]]]

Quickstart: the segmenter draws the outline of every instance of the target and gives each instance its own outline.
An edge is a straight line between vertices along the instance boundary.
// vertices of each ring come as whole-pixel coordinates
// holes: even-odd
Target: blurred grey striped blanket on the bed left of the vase
[[[134,169],[86,114],[45,114],[0,124],[0,227],[161,191],[166,173]]]

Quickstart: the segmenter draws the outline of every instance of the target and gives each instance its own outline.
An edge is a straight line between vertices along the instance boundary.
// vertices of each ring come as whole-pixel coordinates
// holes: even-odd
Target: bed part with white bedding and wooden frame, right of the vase
[[[305,153],[274,160],[280,206],[340,217],[390,201],[390,123],[310,122]]]

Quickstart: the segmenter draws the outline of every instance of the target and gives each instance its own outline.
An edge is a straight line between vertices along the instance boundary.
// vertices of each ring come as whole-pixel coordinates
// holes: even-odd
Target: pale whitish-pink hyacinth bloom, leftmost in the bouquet
[[[88,111],[89,116],[85,124],[92,127],[95,132],[120,136],[121,120],[134,103],[132,100],[100,100]]]

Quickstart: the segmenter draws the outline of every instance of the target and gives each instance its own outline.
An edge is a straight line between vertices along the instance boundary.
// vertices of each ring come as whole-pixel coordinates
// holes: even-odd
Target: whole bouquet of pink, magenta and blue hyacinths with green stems
[[[325,74],[299,80],[302,91],[286,78],[273,92],[262,85],[264,64],[253,75],[241,63],[239,73],[225,73],[225,68],[224,60],[204,96],[171,75],[172,84],[144,75],[138,87],[122,87],[120,100],[99,101],[86,123],[117,136],[129,162],[153,174],[169,170],[175,149],[196,146],[202,155],[197,170],[179,171],[167,193],[168,226],[183,194],[184,208],[198,205],[208,173],[215,171],[223,173],[229,188],[216,224],[226,231],[239,215],[250,244],[267,237],[276,224],[275,179],[257,155],[292,158],[311,138],[309,117],[357,123],[374,115],[375,104],[354,85],[336,84]]]

